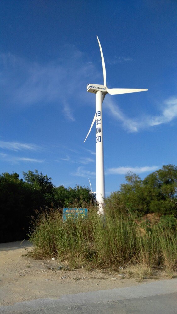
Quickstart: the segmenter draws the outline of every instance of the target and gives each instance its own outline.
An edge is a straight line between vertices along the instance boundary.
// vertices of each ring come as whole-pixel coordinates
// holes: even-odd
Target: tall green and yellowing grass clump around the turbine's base
[[[118,267],[136,262],[148,267],[175,268],[176,232],[161,224],[140,227],[137,219],[108,210],[99,216],[62,221],[58,210],[43,212],[30,234],[35,258],[57,257],[71,268]]]

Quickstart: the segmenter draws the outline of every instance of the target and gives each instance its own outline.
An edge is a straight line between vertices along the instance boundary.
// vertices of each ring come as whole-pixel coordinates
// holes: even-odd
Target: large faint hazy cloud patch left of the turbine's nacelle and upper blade
[[[2,99],[9,106],[57,105],[66,119],[75,121],[75,100],[84,98],[88,73],[97,77],[94,64],[75,46],[64,46],[62,58],[45,64],[30,62],[10,53],[0,55]]]

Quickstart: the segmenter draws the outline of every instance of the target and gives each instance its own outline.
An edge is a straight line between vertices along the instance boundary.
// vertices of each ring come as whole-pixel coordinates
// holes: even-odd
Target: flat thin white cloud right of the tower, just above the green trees
[[[124,175],[128,171],[134,172],[136,174],[143,173],[143,172],[150,172],[156,171],[159,169],[158,166],[145,166],[145,167],[117,167],[117,168],[109,168],[106,171],[106,174],[112,175]]]

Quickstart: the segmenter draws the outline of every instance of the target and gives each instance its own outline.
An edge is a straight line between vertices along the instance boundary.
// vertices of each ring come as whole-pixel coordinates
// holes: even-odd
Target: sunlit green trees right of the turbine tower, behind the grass
[[[129,172],[127,183],[121,184],[120,191],[111,193],[106,203],[114,210],[128,210],[130,213],[144,215],[159,213],[176,214],[177,208],[177,167],[163,166],[144,180]]]

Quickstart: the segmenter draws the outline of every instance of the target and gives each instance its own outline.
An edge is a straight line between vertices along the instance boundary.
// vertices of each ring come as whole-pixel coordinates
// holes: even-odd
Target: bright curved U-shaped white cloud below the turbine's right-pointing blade
[[[136,119],[127,117],[110,98],[105,99],[105,106],[114,118],[122,122],[129,132],[138,132],[141,129],[171,122],[177,117],[177,98],[171,97],[162,104],[162,112],[158,116],[143,116]]]

